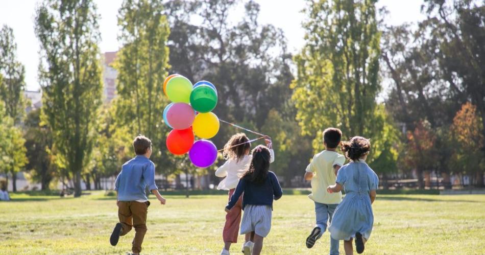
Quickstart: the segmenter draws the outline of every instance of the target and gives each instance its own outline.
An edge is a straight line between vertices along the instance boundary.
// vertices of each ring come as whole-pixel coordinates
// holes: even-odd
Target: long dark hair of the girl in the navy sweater
[[[268,147],[258,145],[253,149],[253,159],[249,165],[248,171],[244,173],[245,180],[261,184],[268,177],[268,171],[270,171],[270,150]]]

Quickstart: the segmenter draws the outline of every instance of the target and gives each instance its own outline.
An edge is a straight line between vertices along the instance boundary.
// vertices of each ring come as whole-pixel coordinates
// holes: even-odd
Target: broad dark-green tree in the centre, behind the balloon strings
[[[229,14],[239,3],[244,4],[242,18],[231,22]],[[212,82],[219,96],[214,113],[220,119],[253,130],[265,130],[275,140],[283,139],[283,133],[299,130],[296,109],[290,100],[292,55],[287,51],[281,29],[258,22],[256,2],[174,0],[165,4],[165,10],[171,27],[167,43],[171,73],[186,76],[192,82]],[[193,20],[202,20],[202,23],[195,24]],[[284,122],[280,129],[271,127],[270,123],[280,121]],[[222,124],[212,141],[222,148],[239,131]],[[301,145],[309,145],[308,137],[301,138],[306,139]],[[284,160],[285,164],[283,160],[278,161],[281,173],[294,174],[292,164],[300,162],[299,157],[309,157],[289,153],[289,148],[280,147],[279,142],[274,145],[277,158],[291,156],[288,161]]]

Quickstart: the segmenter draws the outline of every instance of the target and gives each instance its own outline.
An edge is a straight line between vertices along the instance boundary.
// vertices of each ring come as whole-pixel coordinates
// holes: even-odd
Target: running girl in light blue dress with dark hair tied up
[[[342,142],[342,151],[351,161],[338,170],[335,184],[327,188],[329,193],[345,191],[328,229],[333,239],[344,240],[346,255],[353,254],[353,239],[357,253],[363,252],[374,224],[372,203],[376,199],[379,179],[366,164],[370,149],[369,140],[361,136]]]

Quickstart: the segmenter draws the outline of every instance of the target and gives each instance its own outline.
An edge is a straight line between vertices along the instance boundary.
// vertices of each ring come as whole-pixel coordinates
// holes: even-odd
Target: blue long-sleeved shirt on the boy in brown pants
[[[127,161],[116,177],[114,190],[119,201],[148,200],[145,188],[158,190],[155,184],[155,164],[146,156],[137,155]]]

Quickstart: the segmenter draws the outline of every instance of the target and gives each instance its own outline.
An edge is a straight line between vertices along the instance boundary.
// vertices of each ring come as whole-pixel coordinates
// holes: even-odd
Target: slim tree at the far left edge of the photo
[[[5,102],[5,113],[12,118],[13,126],[17,126],[21,121],[23,115],[23,108],[25,102],[22,97],[23,88],[25,88],[24,76],[25,68],[16,59],[17,44],[15,43],[15,38],[13,36],[13,30],[4,25],[0,29],[0,98]],[[11,127],[13,128],[13,127]],[[11,129],[12,135],[17,135],[18,130]],[[21,140],[14,138],[20,151],[25,151],[25,148],[20,148],[18,143]],[[7,151],[10,154],[10,166],[8,167],[12,174],[13,191],[17,191],[16,180],[17,172],[22,170],[25,165],[26,158],[22,157],[18,153],[20,151]],[[20,160],[20,161],[15,161]]]

